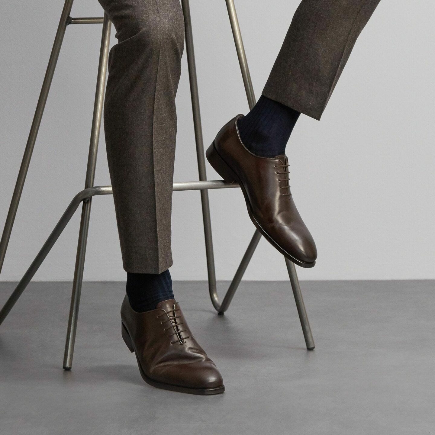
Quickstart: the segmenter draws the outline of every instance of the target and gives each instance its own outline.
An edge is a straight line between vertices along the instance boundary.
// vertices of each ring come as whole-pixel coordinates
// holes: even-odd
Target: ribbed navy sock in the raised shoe
[[[300,114],[261,95],[252,110],[237,121],[240,138],[244,146],[257,156],[275,157],[284,154]]]

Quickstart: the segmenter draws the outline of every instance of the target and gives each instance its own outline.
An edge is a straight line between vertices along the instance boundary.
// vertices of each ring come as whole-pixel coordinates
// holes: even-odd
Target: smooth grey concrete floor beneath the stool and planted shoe
[[[226,283],[220,283],[223,294]],[[145,384],[120,335],[122,283],[84,283],[72,371],[70,283],[32,283],[0,328],[0,434],[435,434],[435,282],[302,282],[307,351],[288,282],[241,284],[225,316],[204,282],[175,282],[227,391]],[[3,305],[13,283],[0,284]]]

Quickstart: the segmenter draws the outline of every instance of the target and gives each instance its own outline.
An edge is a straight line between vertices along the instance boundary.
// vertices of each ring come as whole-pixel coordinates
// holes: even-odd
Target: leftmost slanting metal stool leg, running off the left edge
[[[30,133],[29,137],[27,138],[23,160],[21,161],[20,171],[18,172],[17,182],[15,183],[12,200],[10,201],[9,211],[7,213],[2,238],[0,240],[0,272],[3,267],[3,261],[6,255],[10,233],[12,232],[13,222],[15,221],[15,216],[17,214],[18,204],[20,204],[21,193],[23,191],[24,182],[26,181],[27,170],[29,169],[30,159],[32,158],[33,147],[35,145],[39,126],[41,124],[45,103],[47,102],[48,92],[50,91],[51,81],[53,80],[54,76],[54,70],[56,69],[60,47],[62,47],[65,30],[69,23],[73,1],[74,0],[65,0],[64,8],[60,15],[59,25],[57,27],[56,37],[54,38],[53,48],[51,49],[50,59],[48,60],[47,70],[45,71],[35,114],[33,115],[32,126],[30,127]]]

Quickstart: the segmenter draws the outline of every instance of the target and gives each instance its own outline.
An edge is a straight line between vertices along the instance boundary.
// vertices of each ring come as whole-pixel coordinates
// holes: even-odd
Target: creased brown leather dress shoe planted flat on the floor
[[[225,391],[214,362],[195,341],[174,299],[137,313],[125,296],[121,306],[122,338],[136,354],[145,382],[165,390],[211,395]]]

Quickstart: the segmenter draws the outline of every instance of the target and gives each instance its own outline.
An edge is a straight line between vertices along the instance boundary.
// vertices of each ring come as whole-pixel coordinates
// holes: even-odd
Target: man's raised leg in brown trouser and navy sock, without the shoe
[[[238,121],[254,154],[284,154],[299,114],[320,119],[358,35],[380,0],[303,0],[253,110]]]

